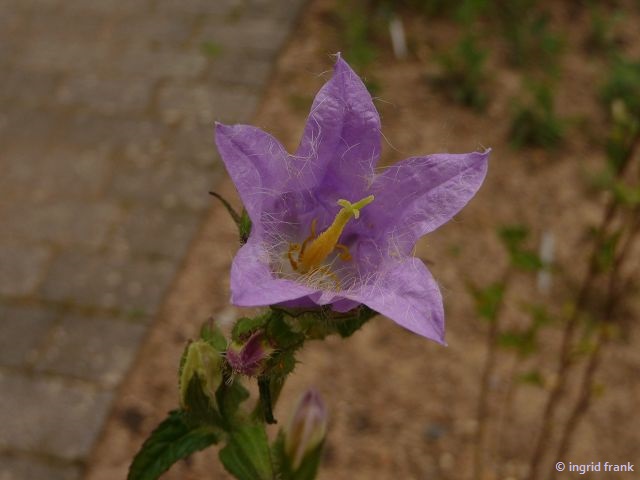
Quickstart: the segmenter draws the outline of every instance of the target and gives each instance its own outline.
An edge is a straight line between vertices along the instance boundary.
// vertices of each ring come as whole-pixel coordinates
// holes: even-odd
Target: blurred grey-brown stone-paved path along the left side
[[[70,480],[304,0],[0,0],[0,480]]]

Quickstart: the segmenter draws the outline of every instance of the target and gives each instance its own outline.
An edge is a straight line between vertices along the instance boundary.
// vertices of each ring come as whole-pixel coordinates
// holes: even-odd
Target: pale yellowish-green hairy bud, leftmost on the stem
[[[222,383],[222,357],[220,352],[204,340],[191,342],[184,354],[180,371],[180,406],[189,408],[189,384],[197,375],[204,394],[215,405],[216,390]]]

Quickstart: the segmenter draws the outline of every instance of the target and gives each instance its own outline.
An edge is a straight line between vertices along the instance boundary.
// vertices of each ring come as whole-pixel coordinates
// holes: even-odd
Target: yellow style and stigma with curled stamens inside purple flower
[[[295,270],[300,273],[307,273],[314,269],[317,269],[321,263],[333,252],[336,248],[343,251],[341,257],[345,260],[351,258],[347,247],[338,244],[338,239],[342,235],[344,227],[347,225],[351,217],[358,218],[360,216],[360,210],[373,202],[373,195],[363,198],[362,200],[351,203],[348,200],[338,200],[338,205],[342,208],[333,220],[333,223],[329,227],[318,235],[315,236],[315,224],[312,224],[311,234],[308,240],[302,245],[298,261],[295,265]]]

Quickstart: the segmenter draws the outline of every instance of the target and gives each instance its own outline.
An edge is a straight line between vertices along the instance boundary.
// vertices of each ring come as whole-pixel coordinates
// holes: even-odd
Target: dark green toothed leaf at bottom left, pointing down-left
[[[128,480],[155,480],[178,460],[219,441],[211,427],[191,428],[173,411],[151,433],[129,467]]]

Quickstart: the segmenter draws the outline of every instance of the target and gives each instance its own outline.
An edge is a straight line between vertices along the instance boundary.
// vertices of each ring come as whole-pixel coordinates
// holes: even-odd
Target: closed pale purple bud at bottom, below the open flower
[[[297,470],[307,454],[320,445],[327,431],[327,408],[320,394],[309,389],[298,401],[284,436],[285,454]]]

